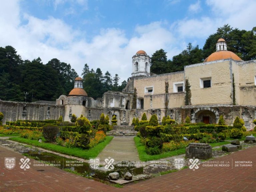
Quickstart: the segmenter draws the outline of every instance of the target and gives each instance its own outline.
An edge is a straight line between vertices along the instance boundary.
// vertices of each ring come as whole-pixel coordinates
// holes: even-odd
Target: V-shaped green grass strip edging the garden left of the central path
[[[10,140],[17,141],[19,143],[25,143],[28,145],[33,145],[36,147],[41,147],[44,149],[48,149],[50,151],[55,151],[71,156],[80,157],[83,159],[95,158],[98,154],[105,148],[105,146],[113,139],[112,136],[107,136],[106,140],[99,143],[95,147],[91,149],[81,149],[81,148],[67,148],[60,145],[52,144],[52,143],[39,143],[37,140],[29,140],[21,137],[11,137]]]

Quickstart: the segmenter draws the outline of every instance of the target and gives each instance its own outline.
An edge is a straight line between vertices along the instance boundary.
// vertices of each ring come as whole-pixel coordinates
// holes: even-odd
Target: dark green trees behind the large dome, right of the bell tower
[[[155,74],[171,73],[183,71],[185,65],[201,63],[216,51],[216,42],[219,38],[225,39],[228,51],[234,52],[242,60],[256,59],[256,27],[246,31],[224,25],[206,39],[203,49],[199,49],[198,45],[193,47],[189,43],[187,49],[173,56],[172,60],[167,60],[163,49],[157,50],[151,57],[150,71]]]

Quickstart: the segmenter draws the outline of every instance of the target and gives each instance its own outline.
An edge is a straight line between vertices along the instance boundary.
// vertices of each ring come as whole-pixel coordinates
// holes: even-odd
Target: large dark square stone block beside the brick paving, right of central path
[[[186,148],[186,157],[209,159],[212,157],[212,147],[207,143],[190,143]]]

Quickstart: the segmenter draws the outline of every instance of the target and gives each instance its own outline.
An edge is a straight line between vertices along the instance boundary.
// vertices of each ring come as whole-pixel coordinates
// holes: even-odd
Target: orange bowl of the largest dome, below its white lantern
[[[224,39],[223,39],[224,40]],[[225,41],[225,40],[224,40]],[[207,57],[204,62],[217,61],[222,59],[233,59],[235,61],[242,61],[235,53],[231,51],[216,51]]]

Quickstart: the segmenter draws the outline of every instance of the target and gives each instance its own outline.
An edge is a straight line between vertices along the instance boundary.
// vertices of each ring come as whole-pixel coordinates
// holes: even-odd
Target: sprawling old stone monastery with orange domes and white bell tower
[[[224,39],[216,43],[216,52],[203,63],[187,65],[184,71],[155,75],[150,73],[150,57],[143,50],[132,57],[132,77],[122,92],[108,91],[94,100],[83,89],[83,80],[75,79],[68,96],[56,103],[0,101],[4,121],[17,119],[58,119],[70,121],[81,114],[97,120],[104,113],[117,116],[118,124],[130,125],[133,117],[156,114],[159,122],[170,115],[176,122],[186,116],[194,123],[218,123],[223,115],[232,125],[236,116],[244,119],[248,130],[256,119],[256,60],[243,61],[227,50]]]

